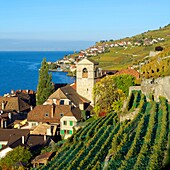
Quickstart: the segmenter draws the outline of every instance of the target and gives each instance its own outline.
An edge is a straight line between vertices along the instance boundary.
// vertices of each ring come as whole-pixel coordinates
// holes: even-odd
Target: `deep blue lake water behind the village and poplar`
[[[72,51],[56,52],[0,52],[0,95],[17,89],[36,90],[38,70],[43,58],[56,61]],[[74,78],[64,72],[53,72],[54,83],[73,83]]]

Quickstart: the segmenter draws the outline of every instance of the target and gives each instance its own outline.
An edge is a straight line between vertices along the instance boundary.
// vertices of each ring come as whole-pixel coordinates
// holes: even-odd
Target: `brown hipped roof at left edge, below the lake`
[[[2,103],[4,102],[4,110],[8,111],[25,111],[30,109],[30,105],[24,102],[19,97],[0,97],[0,110],[2,109]]]

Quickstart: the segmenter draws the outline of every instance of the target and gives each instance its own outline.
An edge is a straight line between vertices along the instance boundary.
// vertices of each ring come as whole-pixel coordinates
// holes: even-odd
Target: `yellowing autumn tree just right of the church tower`
[[[94,112],[97,116],[102,113],[108,113],[113,108],[120,108],[121,103],[119,100],[124,100],[125,94],[119,90],[114,82],[112,76],[104,77],[97,82],[93,89],[93,96],[95,101]],[[116,103],[119,106],[115,106]]]

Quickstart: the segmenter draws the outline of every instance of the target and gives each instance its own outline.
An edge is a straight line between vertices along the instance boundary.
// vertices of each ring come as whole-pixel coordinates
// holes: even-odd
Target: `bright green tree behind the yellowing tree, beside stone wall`
[[[135,85],[135,77],[129,74],[122,74],[113,77],[116,87],[122,90],[126,96],[129,95],[129,87]]]

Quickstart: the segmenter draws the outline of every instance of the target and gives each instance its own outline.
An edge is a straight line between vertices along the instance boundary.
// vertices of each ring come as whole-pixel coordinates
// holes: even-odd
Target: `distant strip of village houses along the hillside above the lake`
[[[65,56],[63,59],[56,61],[54,64],[57,66],[58,71],[67,71],[74,73],[76,71],[77,62],[80,60],[97,56],[99,54],[108,52],[110,48],[113,47],[134,47],[134,46],[149,46],[155,43],[164,41],[164,38],[141,38],[135,41],[110,41],[110,42],[102,42],[100,44],[96,44],[95,46],[89,47],[86,50],[80,50],[77,56],[71,57],[70,55]],[[49,64],[52,64],[51,62]],[[73,74],[74,75],[74,74]]]

